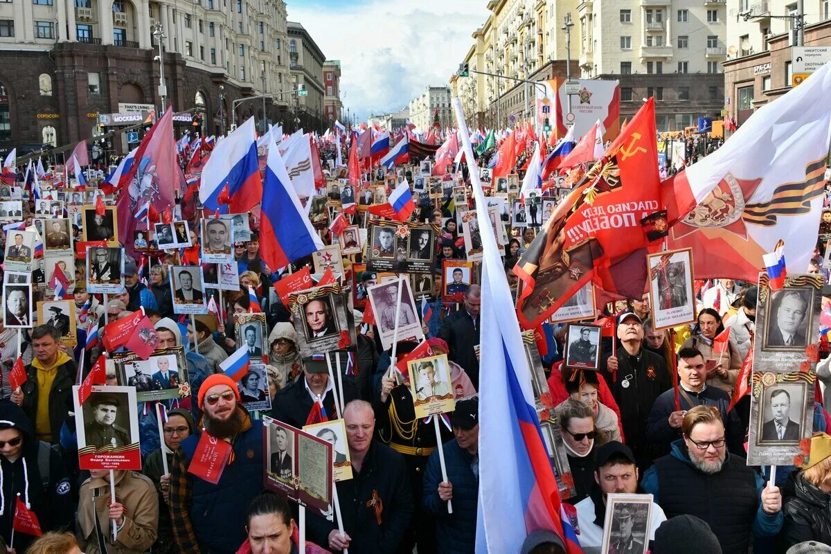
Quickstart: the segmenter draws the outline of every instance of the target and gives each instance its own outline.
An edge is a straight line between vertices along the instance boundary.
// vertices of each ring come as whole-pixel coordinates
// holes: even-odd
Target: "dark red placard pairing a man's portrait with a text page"
[[[332,444],[263,417],[263,485],[332,521]]]

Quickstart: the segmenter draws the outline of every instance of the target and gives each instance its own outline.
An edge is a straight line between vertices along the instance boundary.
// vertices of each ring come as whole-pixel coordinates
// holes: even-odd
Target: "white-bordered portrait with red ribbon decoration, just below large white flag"
[[[661,331],[696,322],[690,248],[647,256],[653,329]]]

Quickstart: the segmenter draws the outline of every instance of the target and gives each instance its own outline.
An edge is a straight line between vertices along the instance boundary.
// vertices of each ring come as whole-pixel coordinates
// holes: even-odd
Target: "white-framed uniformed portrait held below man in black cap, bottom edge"
[[[602,554],[646,554],[652,534],[652,494],[608,494]]]

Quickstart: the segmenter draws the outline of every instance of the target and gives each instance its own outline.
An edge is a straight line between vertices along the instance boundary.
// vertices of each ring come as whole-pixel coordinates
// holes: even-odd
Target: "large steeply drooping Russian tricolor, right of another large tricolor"
[[[217,150],[225,142],[227,140],[223,140]],[[268,194],[264,194],[266,190]],[[268,143],[262,199],[260,255],[272,271],[323,248],[288,179],[286,165],[273,138]]]

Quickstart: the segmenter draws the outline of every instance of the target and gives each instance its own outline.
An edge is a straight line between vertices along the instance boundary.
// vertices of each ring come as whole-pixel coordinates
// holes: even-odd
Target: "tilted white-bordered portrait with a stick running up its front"
[[[398,303],[399,287],[401,287],[401,303]],[[373,287],[367,287],[372,313],[375,315],[378,328],[378,338],[381,346],[386,350],[392,346],[398,326],[398,341],[414,339],[421,341],[424,331],[421,329],[421,320],[416,311],[416,301],[410,289],[410,281],[406,277],[381,282]]]

